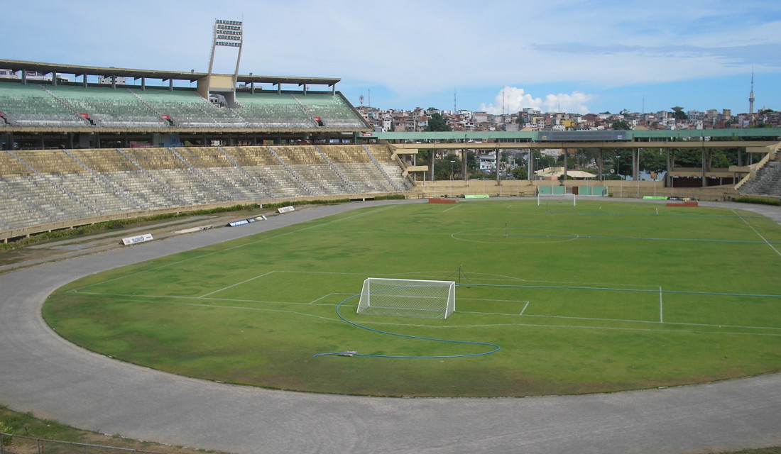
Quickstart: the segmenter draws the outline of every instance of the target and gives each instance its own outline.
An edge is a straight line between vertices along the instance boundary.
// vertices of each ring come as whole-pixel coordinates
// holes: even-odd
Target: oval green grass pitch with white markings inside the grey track
[[[209,380],[361,395],[612,392],[781,369],[779,250],[779,225],[747,211],[391,204],[91,275],[43,313],[87,349]],[[455,281],[456,312],[355,314],[367,277]],[[501,349],[478,355],[486,344]],[[344,350],[445,357],[315,356]]]

